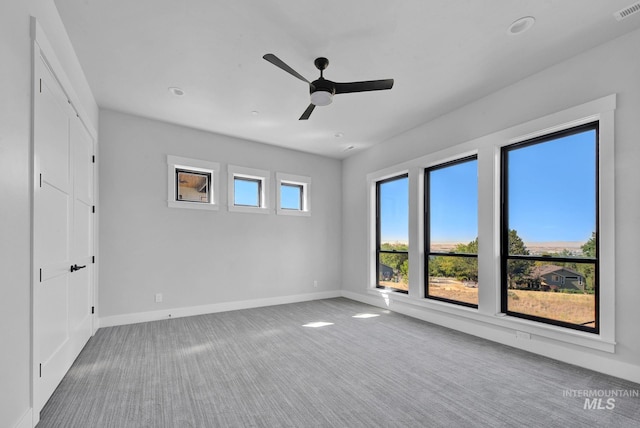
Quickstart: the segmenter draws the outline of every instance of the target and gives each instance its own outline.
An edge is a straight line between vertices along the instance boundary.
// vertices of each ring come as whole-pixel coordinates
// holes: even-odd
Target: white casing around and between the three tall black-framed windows
[[[570,107],[420,158],[390,166],[367,175],[368,198],[368,281],[367,293],[381,297],[386,306],[394,302],[427,309],[420,317],[427,321],[447,320],[445,325],[468,329],[459,320],[493,325],[546,340],[579,347],[615,352],[615,109],[616,94]],[[600,320],[599,333],[583,332],[501,313],[500,307],[500,151],[503,146],[599,122],[599,251]],[[424,279],[424,168],[449,160],[478,154],[478,309],[425,299]],[[375,287],[375,186],[376,182],[403,171],[409,172],[409,294],[390,293]],[[493,286],[491,286],[493,284]],[[410,312],[416,313],[414,310]],[[454,318],[452,318],[452,316]]]

